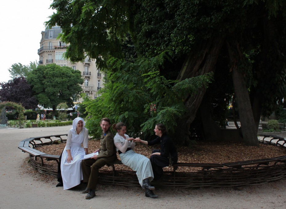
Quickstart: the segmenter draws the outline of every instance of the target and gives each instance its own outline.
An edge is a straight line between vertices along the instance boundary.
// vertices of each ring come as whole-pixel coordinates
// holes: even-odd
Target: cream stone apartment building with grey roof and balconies
[[[54,26],[52,29],[42,31],[42,39],[40,48],[38,49],[39,65],[56,63],[60,66],[69,66],[74,70],[81,71],[82,78],[84,79],[84,83],[81,86],[82,92],[92,98],[98,97],[98,90],[101,89],[103,85],[104,74],[96,67],[95,61],[89,58],[85,58],[82,62],[77,63],[72,63],[64,59],[63,54],[66,52],[68,44],[57,39],[61,32],[62,29],[59,26]],[[81,101],[82,98],[78,101],[74,101],[74,103]]]

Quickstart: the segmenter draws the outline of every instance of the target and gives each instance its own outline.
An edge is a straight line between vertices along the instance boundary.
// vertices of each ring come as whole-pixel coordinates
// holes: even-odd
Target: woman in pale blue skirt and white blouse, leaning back
[[[152,191],[155,188],[150,185],[154,175],[149,158],[133,151],[135,147],[135,142],[133,142],[134,138],[130,138],[125,134],[126,126],[124,123],[119,122],[117,124],[113,124],[113,129],[117,131],[114,136],[114,145],[121,158],[121,162],[136,171],[139,184],[143,189],[145,188],[146,197],[158,198],[158,196],[154,195]]]

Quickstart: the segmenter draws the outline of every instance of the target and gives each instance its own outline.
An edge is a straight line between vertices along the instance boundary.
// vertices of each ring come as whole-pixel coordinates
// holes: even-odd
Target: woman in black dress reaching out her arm
[[[163,174],[164,167],[177,163],[178,153],[173,141],[170,139],[169,135],[167,135],[166,127],[164,124],[156,124],[154,132],[157,138],[153,141],[137,139],[136,142],[141,142],[150,146],[159,143],[161,144],[161,149],[153,150],[150,157],[154,173],[154,180],[158,180]]]

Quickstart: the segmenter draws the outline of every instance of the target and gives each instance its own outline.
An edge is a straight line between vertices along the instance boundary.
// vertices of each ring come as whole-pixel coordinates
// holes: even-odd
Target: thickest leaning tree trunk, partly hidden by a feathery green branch
[[[186,78],[192,78],[215,71],[215,65],[223,42],[224,37],[219,36],[209,40],[209,42],[201,44],[201,50],[196,50],[197,53],[195,55],[189,55],[186,58],[177,79],[182,81]],[[201,51],[201,53],[198,53],[198,51]],[[206,89],[202,88],[197,94],[189,95],[185,100],[185,106],[189,110],[189,116],[186,116],[183,120],[179,120],[176,127],[176,134],[178,139],[180,139],[180,145],[189,144],[190,124],[196,116],[205,92]]]

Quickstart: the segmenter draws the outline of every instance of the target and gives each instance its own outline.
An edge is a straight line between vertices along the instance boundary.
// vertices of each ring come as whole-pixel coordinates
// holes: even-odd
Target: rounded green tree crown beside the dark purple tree
[[[56,64],[38,66],[28,74],[27,81],[32,86],[39,104],[53,108],[53,112],[60,103],[71,107],[73,99],[79,97],[82,91],[80,85],[83,83],[79,70]]]

